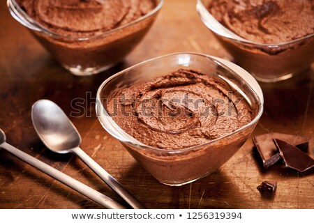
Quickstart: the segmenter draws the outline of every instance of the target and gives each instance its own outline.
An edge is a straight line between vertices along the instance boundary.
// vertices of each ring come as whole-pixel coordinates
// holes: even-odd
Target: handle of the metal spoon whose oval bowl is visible
[[[82,161],[87,164],[108,186],[112,188],[117,194],[119,194],[132,208],[144,209],[145,207],[138,201],[128,190],[126,190],[115,178],[100,167],[100,165],[95,162],[87,153],[82,151],[81,148],[76,147],[72,150],[75,155],[80,157]]]

